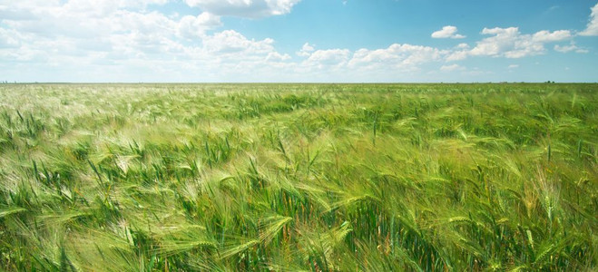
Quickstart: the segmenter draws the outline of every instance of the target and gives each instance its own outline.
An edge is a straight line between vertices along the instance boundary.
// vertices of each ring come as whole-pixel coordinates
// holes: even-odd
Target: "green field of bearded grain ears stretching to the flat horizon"
[[[597,84],[3,84],[0,269],[593,271]]]

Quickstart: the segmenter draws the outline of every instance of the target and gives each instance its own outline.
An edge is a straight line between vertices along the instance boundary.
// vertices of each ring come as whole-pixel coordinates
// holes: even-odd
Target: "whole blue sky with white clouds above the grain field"
[[[596,0],[0,0],[0,81],[598,82]]]

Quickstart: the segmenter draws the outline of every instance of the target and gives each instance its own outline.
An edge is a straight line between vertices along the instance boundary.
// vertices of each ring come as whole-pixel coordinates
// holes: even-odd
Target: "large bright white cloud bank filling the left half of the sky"
[[[219,15],[164,15],[146,9],[166,2],[32,0],[4,5],[0,0],[0,13],[20,13],[0,19],[0,66],[10,65],[3,70],[10,72],[27,65],[28,71],[67,74],[67,80],[118,81],[134,72],[140,81],[159,81],[160,76],[188,81],[192,71],[218,81],[224,73],[279,71],[291,59],[274,49],[272,39],[252,40],[233,30],[211,33],[222,26]],[[81,71],[87,73],[77,76]]]

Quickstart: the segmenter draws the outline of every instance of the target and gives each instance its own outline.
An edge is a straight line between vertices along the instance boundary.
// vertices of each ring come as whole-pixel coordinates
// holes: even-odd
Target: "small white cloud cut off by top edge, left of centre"
[[[293,5],[301,0],[184,0],[193,7],[214,15],[230,15],[259,18],[271,15],[286,15]]]

